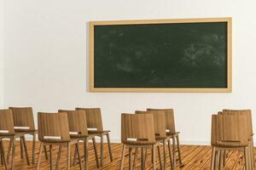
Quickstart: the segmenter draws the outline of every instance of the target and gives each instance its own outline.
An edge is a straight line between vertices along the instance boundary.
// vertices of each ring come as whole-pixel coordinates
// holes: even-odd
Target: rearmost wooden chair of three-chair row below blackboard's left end
[[[88,133],[101,138],[101,166],[103,167],[103,161],[104,161],[103,136],[104,135],[106,135],[108,139],[108,152],[109,152],[110,161],[113,161],[113,156],[112,156],[111,144],[110,144],[110,138],[109,138],[110,130],[103,130],[101,109],[100,108],[76,108],[76,110],[85,111]]]

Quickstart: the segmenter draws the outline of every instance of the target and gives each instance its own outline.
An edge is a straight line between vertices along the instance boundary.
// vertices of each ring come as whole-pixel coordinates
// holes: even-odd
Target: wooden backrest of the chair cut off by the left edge
[[[11,110],[0,110],[0,136],[15,134],[15,124]]]

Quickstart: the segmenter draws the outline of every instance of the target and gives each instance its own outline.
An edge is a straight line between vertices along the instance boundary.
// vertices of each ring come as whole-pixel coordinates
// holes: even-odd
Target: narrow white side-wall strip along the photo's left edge
[[[0,108],[3,108],[3,0],[0,0]]]

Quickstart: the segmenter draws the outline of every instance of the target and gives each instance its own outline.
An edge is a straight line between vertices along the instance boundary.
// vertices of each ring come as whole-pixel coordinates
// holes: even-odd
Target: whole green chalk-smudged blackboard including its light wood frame
[[[90,91],[230,92],[230,22],[90,22]]]

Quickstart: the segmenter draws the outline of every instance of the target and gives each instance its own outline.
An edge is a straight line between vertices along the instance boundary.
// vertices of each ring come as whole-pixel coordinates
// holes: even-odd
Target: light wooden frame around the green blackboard
[[[227,23],[227,88],[96,88],[94,80],[94,26],[145,25],[169,23]],[[198,18],[168,20],[112,20],[90,21],[90,92],[144,92],[144,93],[231,93],[232,92],[232,18]]]

